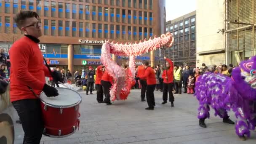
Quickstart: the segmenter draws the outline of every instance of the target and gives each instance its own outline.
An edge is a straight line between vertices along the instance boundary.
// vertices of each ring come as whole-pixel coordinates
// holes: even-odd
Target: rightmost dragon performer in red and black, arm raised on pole
[[[167,103],[167,98],[168,98],[168,94],[167,91],[169,92],[169,101],[171,102],[171,107],[174,107],[173,101],[174,101],[174,97],[173,97],[173,62],[164,57],[164,59],[166,60],[166,69],[163,71],[163,102],[162,104],[166,104]]]

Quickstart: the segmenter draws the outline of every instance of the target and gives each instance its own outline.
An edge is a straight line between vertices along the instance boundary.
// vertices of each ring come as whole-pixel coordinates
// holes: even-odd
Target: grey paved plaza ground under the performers
[[[94,91],[94,93],[96,93]],[[106,106],[96,102],[96,94],[85,95],[80,104],[80,129],[61,139],[43,136],[41,144],[255,144],[251,139],[240,141],[234,125],[214,117],[206,120],[208,128],[200,128],[197,119],[198,101],[192,95],[175,95],[174,107],[162,105],[162,93],[155,91],[156,107],[146,111],[147,102],[140,101],[140,90],[132,90],[128,100]],[[14,120],[18,116],[9,109]],[[233,112],[229,112],[235,120]],[[15,144],[22,144],[24,133],[15,124]]]

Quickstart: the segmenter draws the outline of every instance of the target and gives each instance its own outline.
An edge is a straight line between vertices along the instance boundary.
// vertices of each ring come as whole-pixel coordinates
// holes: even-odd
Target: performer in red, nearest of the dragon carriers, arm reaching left
[[[146,88],[146,97],[147,97],[147,104],[149,107],[145,108],[146,110],[154,110],[155,107],[155,85],[156,85],[156,79],[155,79],[155,72],[154,69],[149,67],[149,62],[144,62],[144,68],[145,73],[144,75],[140,76],[139,79],[146,79],[147,81],[147,88]]]

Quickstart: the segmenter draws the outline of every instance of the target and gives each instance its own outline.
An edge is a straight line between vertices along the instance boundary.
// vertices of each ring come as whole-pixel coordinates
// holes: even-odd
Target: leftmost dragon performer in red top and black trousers
[[[97,89],[97,101],[98,103],[102,103],[103,102],[103,89],[102,89],[102,85],[101,85],[101,77],[104,74],[104,66],[100,65],[99,67],[97,67],[97,71],[96,71],[96,80],[95,80],[95,85],[96,85],[96,89]]]

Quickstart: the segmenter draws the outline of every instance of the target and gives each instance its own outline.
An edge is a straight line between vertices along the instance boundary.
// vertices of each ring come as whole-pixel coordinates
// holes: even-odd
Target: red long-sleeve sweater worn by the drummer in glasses
[[[27,86],[39,95],[45,84],[45,76],[51,77],[47,67],[43,64],[43,54],[38,43],[24,36],[13,43],[9,54],[11,101],[37,99]]]

